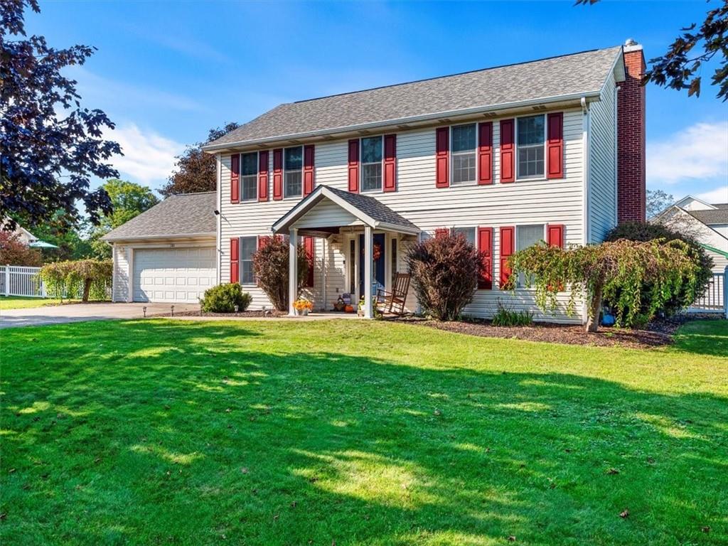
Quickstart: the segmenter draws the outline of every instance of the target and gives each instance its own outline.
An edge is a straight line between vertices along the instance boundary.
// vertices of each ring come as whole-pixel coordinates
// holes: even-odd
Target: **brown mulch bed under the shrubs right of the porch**
[[[569,345],[652,349],[654,347],[663,347],[671,344],[673,342],[673,333],[682,324],[697,318],[706,317],[681,315],[670,319],[654,320],[644,330],[600,327],[596,333],[585,331],[582,325],[534,323],[531,326],[494,326],[488,320],[469,320],[467,322],[460,321],[451,323],[441,323],[438,320],[417,320],[415,318],[400,320],[421,324],[438,330],[465,333],[470,336],[526,339],[529,341],[547,341],[550,343]]]

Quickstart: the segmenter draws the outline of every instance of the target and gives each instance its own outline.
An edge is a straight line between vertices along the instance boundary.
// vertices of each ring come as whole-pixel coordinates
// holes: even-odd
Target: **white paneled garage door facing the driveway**
[[[134,250],[134,301],[196,304],[215,284],[215,247]]]

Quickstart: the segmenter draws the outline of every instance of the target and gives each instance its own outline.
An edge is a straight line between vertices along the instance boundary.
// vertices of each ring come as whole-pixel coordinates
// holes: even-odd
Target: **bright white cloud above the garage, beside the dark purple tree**
[[[111,158],[119,174],[147,185],[165,181],[172,173],[175,156],[184,149],[183,144],[157,132],[141,130],[133,123],[117,125],[115,130],[106,130],[103,136],[122,147],[124,155]]]

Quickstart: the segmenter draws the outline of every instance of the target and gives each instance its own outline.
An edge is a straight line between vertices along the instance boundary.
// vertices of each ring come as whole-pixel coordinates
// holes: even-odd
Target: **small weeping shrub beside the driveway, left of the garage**
[[[48,296],[74,298],[82,291],[81,299],[87,302],[107,298],[112,269],[111,260],[57,261],[44,265],[39,274]]]

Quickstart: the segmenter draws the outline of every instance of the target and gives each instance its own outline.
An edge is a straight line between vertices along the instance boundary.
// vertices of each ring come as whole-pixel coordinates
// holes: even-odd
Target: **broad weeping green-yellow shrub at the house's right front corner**
[[[699,269],[688,245],[680,240],[620,239],[567,249],[541,242],[513,254],[508,262],[513,273],[505,288],[513,288],[523,272],[529,284],[533,280],[536,303],[545,312],[557,309],[556,294],[563,290],[570,292],[568,314],[574,313],[576,299],[586,296],[591,332],[597,331],[602,301],[612,303],[618,325],[640,325],[645,317],[654,317],[665,301],[693,293]],[[643,302],[649,302],[646,308]],[[691,302],[684,299],[681,304]]]

